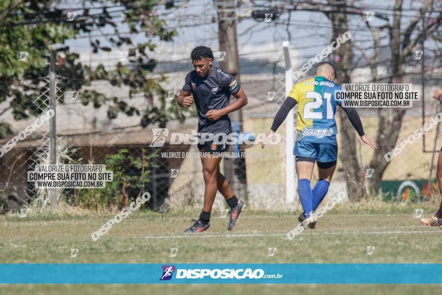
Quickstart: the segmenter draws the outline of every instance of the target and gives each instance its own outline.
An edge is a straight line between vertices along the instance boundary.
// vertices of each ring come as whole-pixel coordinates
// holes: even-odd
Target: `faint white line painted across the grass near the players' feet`
[[[415,228],[422,226],[404,226],[404,227],[398,227],[398,228]],[[380,227],[385,228],[385,227]],[[388,235],[388,234],[425,234],[425,233],[440,233],[440,230],[438,229],[421,229],[418,231],[402,231],[402,230],[390,230],[390,231],[373,231],[375,229],[380,228],[373,228],[372,231],[367,230],[343,230],[343,229],[336,229],[330,232],[330,230],[322,230],[326,232],[312,232],[312,231],[304,231],[302,234],[306,236],[314,236],[314,235],[354,235],[354,234],[375,234],[375,235]],[[314,230],[318,231],[318,230]],[[341,232],[339,232],[341,231]],[[232,234],[221,234],[221,233],[203,233],[203,234],[183,234],[183,235],[158,235],[158,236],[145,236],[146,239],[185,239],[185,238],[243,238],[243,237],[286,237],[286,231],[284,232],[253,232],[253,233],[232,233]]]

